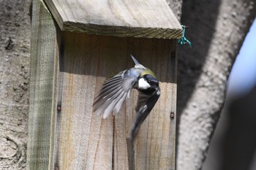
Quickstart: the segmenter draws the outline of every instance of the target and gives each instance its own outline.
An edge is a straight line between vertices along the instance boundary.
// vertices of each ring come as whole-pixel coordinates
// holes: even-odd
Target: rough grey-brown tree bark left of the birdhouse
[[[0,1],[0,169],[26,166],[30,0]]]

